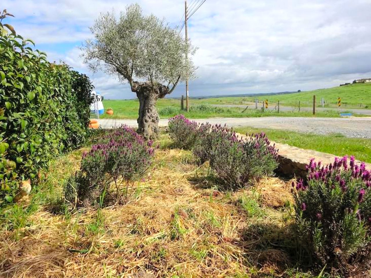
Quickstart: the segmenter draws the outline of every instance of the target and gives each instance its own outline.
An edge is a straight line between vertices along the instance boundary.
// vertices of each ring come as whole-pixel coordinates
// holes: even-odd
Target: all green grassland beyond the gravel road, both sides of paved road
[[[291,117],[312,117],[309,111],[298,110],[300,101],[301,107],[311,107],[313,104],[313,95],[316,95],[317,106],[321,106],[321,98],[325,99],[325,107],[336,107],[337,98],[342,98],[341,108],[371,108],[371,83],[352,84],[348,86],[339,86],[328,89],[318,89],[308,92],[290,93],[285,95],[258,96],[259,107],[263,100],[268,99],[269,106],[276,106],[278,100],[282,106],[291,106],[293,111],[280,111],[259,109],[247,109],[237,107],[214,107],[217,104],[249,105],[255,107],[252,102],[256,97],[214,97],[208,99],[190,99],[190,111],[180,110],[180,99],[159,99],[156,104],[160,118],[169,118],[177,114],[184,114],[187,118],[202,119],[211,117],[263,117],[263,116],[291,116]],[[137,119],[139,102],[136,99],[130,100],[103,100],[105,109],[112,108],[114,115],[102,115],[101,118],[112,119]],[[185,103],[184,103],[185,105]],[[355,115],[356,116],[356,115]],[[317,111],[316,117],[339,117],[337,111]]]

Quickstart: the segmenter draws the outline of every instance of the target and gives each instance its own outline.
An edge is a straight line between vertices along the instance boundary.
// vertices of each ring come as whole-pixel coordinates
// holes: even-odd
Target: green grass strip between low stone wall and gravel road
[[[358,160],[371,163],[371,139],[345,138],[341,134],[316,135],[277,129],[237,128],[236,131],[242,134],[265,132],[270,140],[277,143],[338,156],[354,155]]]

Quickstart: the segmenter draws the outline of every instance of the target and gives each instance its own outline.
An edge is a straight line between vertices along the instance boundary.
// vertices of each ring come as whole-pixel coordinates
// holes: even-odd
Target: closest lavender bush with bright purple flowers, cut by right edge
[[[300,236],[323,264],[344,268],[370,245],[371,171],[354,156],[322,167],[311,159],[307,169],[292,184]]]

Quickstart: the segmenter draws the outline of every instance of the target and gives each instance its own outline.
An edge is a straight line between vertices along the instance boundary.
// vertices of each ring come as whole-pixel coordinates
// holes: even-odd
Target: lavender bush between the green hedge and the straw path
[[[112,182],[119,195],[119,179],[122,178],[128,185],[129,181],[141,177],[151,165],[154,154],[151,146],[152,141],[145,142],[127,126],[105,134],[98,144],[82,155],[81,171],[76,174],[74,185],[79,201],[91,203]],[[70,186],[73,185],[69,181],[65,188],[68,201],[72,201]]]

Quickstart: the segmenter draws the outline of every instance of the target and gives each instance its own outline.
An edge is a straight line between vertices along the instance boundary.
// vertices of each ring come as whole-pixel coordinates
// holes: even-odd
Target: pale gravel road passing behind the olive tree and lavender
[[[209,118],[194,119],[197,122],[211,124],[225,123],[229,127],[251,126],[253,128],[272,128],[294,130],[304,133],[329,134],[341,133],[352,138],[371,138],[371,117],[364,118],[306,118],[306,117],[261,117],[261,118]],[[118,127],[122,124],[137,127],[136,120],[99,119],[102,128]],[[161,119],[160,126],[167,125],[167,119]]]

